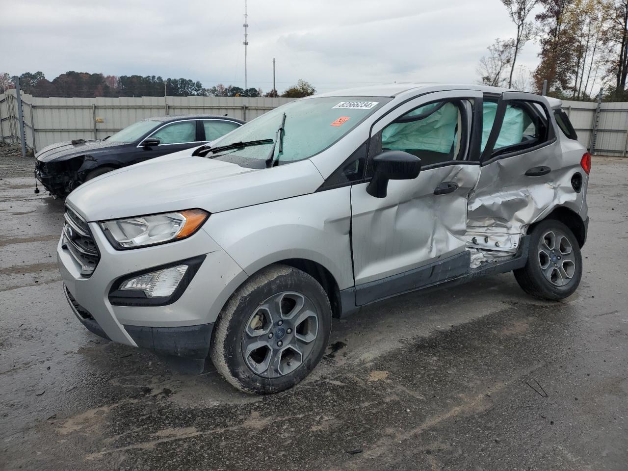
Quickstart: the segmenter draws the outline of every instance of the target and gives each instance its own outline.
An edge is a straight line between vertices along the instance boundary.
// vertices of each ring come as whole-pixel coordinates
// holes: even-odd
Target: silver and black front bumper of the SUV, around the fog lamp
[[[183,241],[116,251],[98,224],[89,223],[100,259],[91,276],[63,245],[57,246],[58,267],[66,296],[77,318],[91,332],[114,342],[144,347],[159,354],[206,357],[213,324],[222,306],[246,273],[204,230]],[[164,306],[117,306],[109,302],[112,284],[122,276],[205,254],[183,294]]]

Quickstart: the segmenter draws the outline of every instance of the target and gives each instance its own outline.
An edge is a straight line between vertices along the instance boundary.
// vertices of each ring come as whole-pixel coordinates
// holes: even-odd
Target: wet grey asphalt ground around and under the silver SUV
[[[625,470],[628,159],[594,158],[583,281],[512,274],[335,320],[274,396],[92,335],[63,296],[62,202],[0,160],[0,470]]]

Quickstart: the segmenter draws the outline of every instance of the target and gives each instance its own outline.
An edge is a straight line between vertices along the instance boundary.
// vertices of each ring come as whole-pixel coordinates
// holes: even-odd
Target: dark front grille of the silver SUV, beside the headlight
[[[81,266],[81,276],[92,276],[100,260],[98,247],[87,222],[67,206],[63,225],[63,248],[68,249],[73,259]]]

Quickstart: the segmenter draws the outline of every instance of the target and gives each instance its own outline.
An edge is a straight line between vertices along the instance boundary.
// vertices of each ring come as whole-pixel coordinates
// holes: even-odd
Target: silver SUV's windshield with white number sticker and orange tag
[[[257,117],[213,144],[225,146],[259,139],[274,141],[285,113],[283,151],[279,152],[277,143],[274,160],[277,164],[303,160],[328,148],[389,100],[391,99],[387,97],[321,97],[297,100]],[[217,155],[222,156],[219,160],[229,160],[233,156],[239,162],[242,158],[264,161],[273,147],[273,141],[219,150]],[[211,153],[207,156],[215,157]]]

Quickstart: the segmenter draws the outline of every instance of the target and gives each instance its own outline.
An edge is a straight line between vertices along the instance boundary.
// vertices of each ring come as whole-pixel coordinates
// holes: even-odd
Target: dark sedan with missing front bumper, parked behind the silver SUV
[[[158,116],[105,139],[51,144],[37,153],[35,176],[55,197],[116,168],[214,141],[244,124],[227,116]]]

